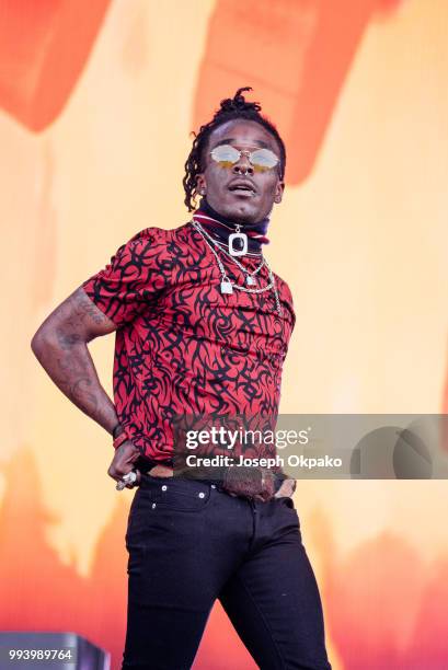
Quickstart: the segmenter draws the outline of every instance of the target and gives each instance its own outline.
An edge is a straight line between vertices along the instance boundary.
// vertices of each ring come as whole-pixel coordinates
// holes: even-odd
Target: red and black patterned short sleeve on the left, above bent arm
[[[147,228],[137,233],[104,269],[82,282],[89,298],[117,327],[145,312],[170,284],[166,232]]]

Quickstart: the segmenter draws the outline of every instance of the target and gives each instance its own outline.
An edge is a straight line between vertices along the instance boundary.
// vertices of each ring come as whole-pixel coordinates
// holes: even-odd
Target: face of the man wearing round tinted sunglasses
[[[242,154],[237,163],[223,168],[210,155],[219,145],[248,151],[266,148],[280,158],[275,138],[256,122],[237,119],[222,124],[209,137],[203,155],[204,172],[197,176],[198,193],[206,195],[218,213],[241,223],[261,221],[269,215],[274,203],[282,201],[285,183],[279,178],[278,165],[259,172],[249,157]]]

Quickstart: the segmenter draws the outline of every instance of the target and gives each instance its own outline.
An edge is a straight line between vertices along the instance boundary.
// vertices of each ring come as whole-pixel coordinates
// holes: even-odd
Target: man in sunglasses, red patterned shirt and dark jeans
[[[291,480],[234,466],[218,480],[173,476],[176,417],[276,416],[296,319],[262,253],[285,147],[245,90],[195,137],[184,178],[189,211],[202,196],[193,220],[134,235],[32,343],[59,389],[113,435],[117,488],[138,486],[123,668],[191,668],[217,598],[262,669],[331,668]],[[87,346],[113,331],[114,403]]]

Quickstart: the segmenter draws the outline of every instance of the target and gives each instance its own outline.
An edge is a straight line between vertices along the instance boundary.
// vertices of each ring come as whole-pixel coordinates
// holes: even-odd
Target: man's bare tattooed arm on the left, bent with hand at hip
[[[115,405],[101,385],[88,343],[117,326],[90,300],[82,287],[60,303],[36,331],[31,348],[55,384],[82,412],[112,435]],[[139,455],[130,440],[115,452],[108,474],[118,480]]]

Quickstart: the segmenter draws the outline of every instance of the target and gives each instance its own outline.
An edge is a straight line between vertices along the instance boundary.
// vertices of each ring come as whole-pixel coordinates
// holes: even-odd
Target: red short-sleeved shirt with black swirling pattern
[[[243,285],[241,269],[221,261]],[[260,264],[239,261],[250,272]],[[265,266],[256,276],[269,282]],[[172,457],[174,415],[276,415],[296,316],[288,285],[274,277],[282,316],[273,290],[222,294],[216,257],[188,222],[140,231],[82,284],[117,325],[114,402],[142,455]]]

